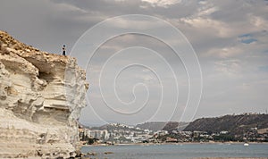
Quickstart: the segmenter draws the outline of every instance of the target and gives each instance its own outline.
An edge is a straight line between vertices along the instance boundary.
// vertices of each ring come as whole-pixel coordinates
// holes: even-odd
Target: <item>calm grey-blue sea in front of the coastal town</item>
[[[264,157],[268,144],[172,144],[83,146],[82,153],[96,153],[93,158],[106,159],[188,159],[200,157]],[[106,153],[105,152],[112,152]]]

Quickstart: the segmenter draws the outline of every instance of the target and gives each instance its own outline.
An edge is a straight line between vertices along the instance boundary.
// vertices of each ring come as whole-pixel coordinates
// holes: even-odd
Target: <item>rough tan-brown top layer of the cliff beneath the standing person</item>
[[[78,67],[74,57],[40,51],[33,46],[21,43],[7,32],[0,30],[0,60],[4,63],[10,57],[14,58],[14,63],[20,60],[29,61],[34,67],[38,68],[38,71],[46,73],[51,73],[55,69],[65,68],[67,65],[69,68]],[[24,65],[27,64],[25,63]],[[36,72],[32,66],[28,65],[26,67],[28,67],[29,71]]]

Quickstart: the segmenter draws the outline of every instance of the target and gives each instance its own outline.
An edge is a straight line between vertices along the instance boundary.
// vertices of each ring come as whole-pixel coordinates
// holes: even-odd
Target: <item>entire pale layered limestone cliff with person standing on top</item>
[[[0,31],[0,158],[69,157],[79,147],[87,89],[74,58],[41,52]]]

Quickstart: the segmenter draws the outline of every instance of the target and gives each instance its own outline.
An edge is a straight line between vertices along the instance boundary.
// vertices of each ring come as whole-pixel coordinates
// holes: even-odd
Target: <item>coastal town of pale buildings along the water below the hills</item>
[[[149,123],[147,123],[148,125]],[[268,142],[268,130],[259,129],[258,126],[232,130],[190,130],[188,123],[184,128],[178,122],[174,128],[174,122],[166,122],[159,130],[150,130],[129,126],[120,123],[110,123],[102,127],[87,128],[80,125],[81,145],[117,145],[117,144],[138,144],[138,143],[181,143],[181,142]]]

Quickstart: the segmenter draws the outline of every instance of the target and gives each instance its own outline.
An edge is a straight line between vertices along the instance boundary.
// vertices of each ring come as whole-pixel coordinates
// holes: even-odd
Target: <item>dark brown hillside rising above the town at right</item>
[[[268,128],[268,114],[225,115],[215,118],[201,118],[190,122],[185,131],[220,132],[229,131],[230,135],[243,134],[251,128],[264,130]]]

